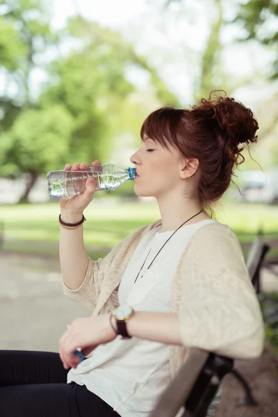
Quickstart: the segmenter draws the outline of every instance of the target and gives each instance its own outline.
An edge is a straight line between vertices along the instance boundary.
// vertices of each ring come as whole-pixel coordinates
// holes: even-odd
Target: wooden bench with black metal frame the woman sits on
[[[259,271],[265,254],[270,249],[258,236],[247,256],[247,269],[250,279],[260,291]],[[211,401],[218,391],[220,382],[232,373],[245,391],[241,405],[256,405],[250,386],[234,369],[234,359],[214,354],[206,350],[190,348],[188,357],[156,402],[156,409],[149,417],[206,417]]]

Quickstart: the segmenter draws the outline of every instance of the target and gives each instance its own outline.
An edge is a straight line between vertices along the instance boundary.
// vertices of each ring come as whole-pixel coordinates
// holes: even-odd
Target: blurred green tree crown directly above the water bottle
[[[69,35],[83,35],[80,27],[83,29],[80,18],[71,19]],[[50,82],[40,97],[40,105],[59,103],[74,118],[69,153],[64,158],[74,162],[104,161],[115,133],[111,119],[135,88],[125,78],[127,57],[121,56],[113,44],[99,42],[88,34],[82,41],[79,51],[51,63]]]

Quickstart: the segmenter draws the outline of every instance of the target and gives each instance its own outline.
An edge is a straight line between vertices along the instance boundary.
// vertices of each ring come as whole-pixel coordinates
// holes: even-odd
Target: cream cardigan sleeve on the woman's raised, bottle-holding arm
[[[79,288],[74,290],[68,288],[62,279],[63,292],[67,297],[75,302],[81,303],[86,309],[90,311],[95,310],[97,300],[101,287],[105,286],[104,290],[109,293],[111,282],[104,283],[108,273],[113,272],[113,277],[124,272],[126,267],[126,259],[129,259],[138,245],[140,238],[147,233],[151,226],[144,226],[136,230],[122,242],[118,243],[111,252],[104,258],[99,258],[93,261],[88,256],[88,268],[85,273],[83,282]]]

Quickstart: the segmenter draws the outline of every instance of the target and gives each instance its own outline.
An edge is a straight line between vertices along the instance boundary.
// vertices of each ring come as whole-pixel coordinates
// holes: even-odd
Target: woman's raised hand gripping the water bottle
[[[91,165],[92,167],[100,167],[101,163],[99,161],[95,161],[92,162]],[[87,162],[83,162],[80,165],[79,163],[75,163],[73,166],[66,164],[65,170],[90,171],[90,164]],[[85,182],[84,193],[60,199],[61,218],[65,222],[69,223],[79,222],[82,218],[83,211],[92,201],[94,193],[95,179],[91,177]]]

